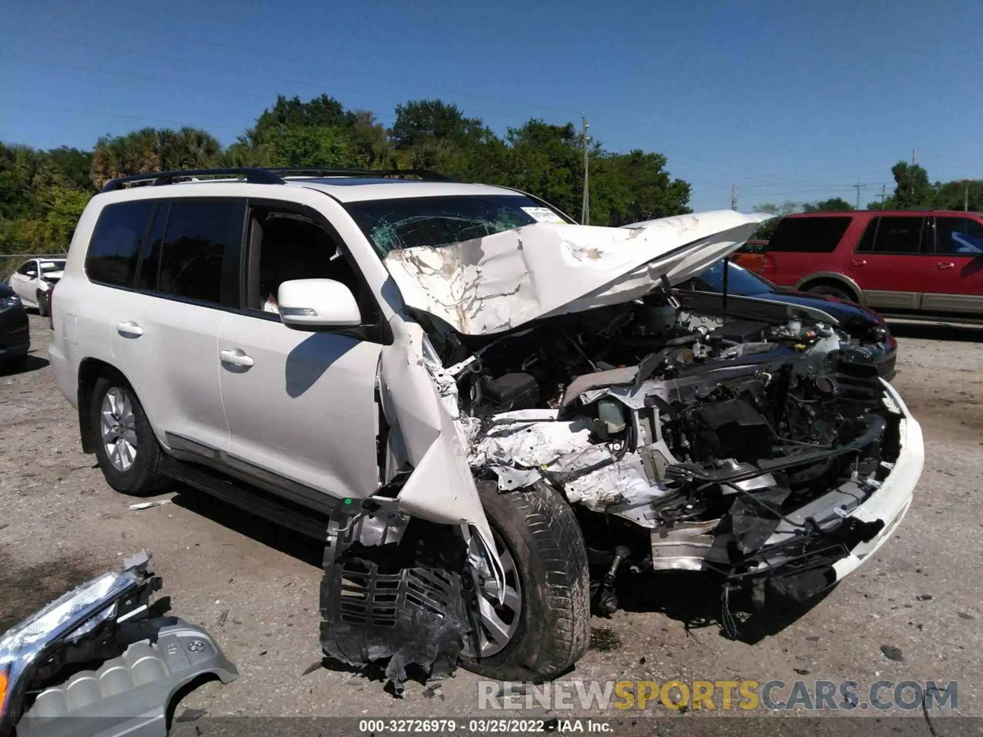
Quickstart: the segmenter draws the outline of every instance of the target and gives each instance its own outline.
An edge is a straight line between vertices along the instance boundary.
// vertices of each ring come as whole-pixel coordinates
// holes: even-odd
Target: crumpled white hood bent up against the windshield
[[[408,307],[466,335],[641,297],[736,250],[771,215],[732,210],[605,228],[534,223],[443,247],[390,252]]]

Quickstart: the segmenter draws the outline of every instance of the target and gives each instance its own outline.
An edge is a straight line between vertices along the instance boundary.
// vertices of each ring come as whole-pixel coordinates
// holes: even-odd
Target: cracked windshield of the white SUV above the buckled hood
[[[525,195],[373,199],[345,206],[380,258],[390,251],[449,246],[536,222],[566,222]]]

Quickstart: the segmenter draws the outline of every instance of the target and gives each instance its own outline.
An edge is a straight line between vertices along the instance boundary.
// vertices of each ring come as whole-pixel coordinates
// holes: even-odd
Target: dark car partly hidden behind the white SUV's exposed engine
[[[723,311],[723,263],[718,261],[680,285],[676,294],[684,307],[706,311],[716,305],[718,312]],[[882,377],[890,380],[895,375],[897,341],[878,312],[831,295],[783,289],[734,263],[726,263],[729,315],[761,319],[789,308],[825,312],[838,321],[838,329],[849,336],[855,348],[867,353]]]

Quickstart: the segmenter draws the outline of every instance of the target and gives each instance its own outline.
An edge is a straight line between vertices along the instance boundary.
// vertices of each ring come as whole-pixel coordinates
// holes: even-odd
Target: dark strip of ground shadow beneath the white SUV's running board
[[[276,525],[183,483],[176,484],[173,490],[178,492],[171,499],[174,504],[315,568],[321,567],[324,558],[323,541],[298,535],[288,528]]]

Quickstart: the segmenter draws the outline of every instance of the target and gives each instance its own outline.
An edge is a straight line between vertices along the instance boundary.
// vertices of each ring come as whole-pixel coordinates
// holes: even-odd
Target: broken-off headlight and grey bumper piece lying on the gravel
[[[0,637],[0,737],[15,724],[21,737],[165,737],[182,687],[204,673],[238,677],[200,627],[150,616],[160,579],[147,572],[149,559],[141,551]],[[59,683],[74,664],[93,661],[103,662]]]

